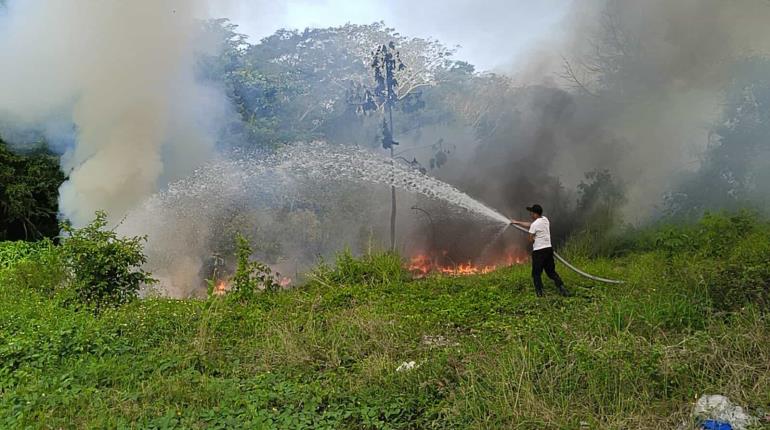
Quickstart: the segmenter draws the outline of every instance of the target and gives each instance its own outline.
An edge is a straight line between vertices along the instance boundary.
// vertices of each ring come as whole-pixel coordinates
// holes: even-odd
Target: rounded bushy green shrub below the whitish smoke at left
[[[118,237],[106,226],[107,214],[102,211],[86,227],[62,225],[69,236],[62,245],[62,255],[75,296],[97,311],[124,304],[137,297],[142,284],[157,282],[141,269],[147,262],[142,248],[146,238]]]

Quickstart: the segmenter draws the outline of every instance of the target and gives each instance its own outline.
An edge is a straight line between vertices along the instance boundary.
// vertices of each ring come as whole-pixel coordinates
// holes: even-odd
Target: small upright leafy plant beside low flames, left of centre
[[[241,234],[235,237],[238,267],[232,279],[232,296],[239,301],[253,299],[259,290],[276,291],[280,287],[270,267],[251,259],[249,241]]]

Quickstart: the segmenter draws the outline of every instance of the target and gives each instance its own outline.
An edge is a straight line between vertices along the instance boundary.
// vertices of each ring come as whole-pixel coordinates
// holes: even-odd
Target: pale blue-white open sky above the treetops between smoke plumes
[[[212,13],[230,18],[253,42],[280,28],[385,21],[402,34],[460,45],[456,59],[480,70],[514,64],[559,33],[570,0],[230,0]]]

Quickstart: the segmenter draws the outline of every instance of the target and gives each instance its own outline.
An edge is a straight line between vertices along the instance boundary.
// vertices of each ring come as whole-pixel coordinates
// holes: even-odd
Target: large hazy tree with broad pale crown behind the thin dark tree
[[[389,41],[409,64],[395,71],[401,111],[414,117],[414,124],[404,125],[416,128],[422,121],[442,119],[416,115],[425,105],[422,91],[441,82],[452,63],[453,50],[437,41],[407,38],[383,23],[279,30],[256,44],[246,43],[226,20],[210,21],[206,29],[224,49],[201,62],[200,74],[226,88],[241,120],[228,124],[230,136],[221,141],[268,149],[314,139],[372,142],[381,122],[356,111],[371,86],[372,48]]]

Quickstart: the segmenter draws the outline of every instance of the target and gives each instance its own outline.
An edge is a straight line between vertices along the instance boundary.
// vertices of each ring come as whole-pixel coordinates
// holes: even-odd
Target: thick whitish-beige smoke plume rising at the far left
[[[0,116],[65,141],[60,209],[74,224],[119,219],[211,153],[224,104],[194,76],[202,3],[8,2]]]

